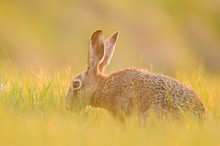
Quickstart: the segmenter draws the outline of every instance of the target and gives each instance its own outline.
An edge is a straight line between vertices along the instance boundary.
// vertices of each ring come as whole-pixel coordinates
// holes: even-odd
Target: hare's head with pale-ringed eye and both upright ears
[[[104,77],[104,69],[110,63],[118,32],[104,40],[101,30],[95,31],[89,44],[87,70],[71,82],[65,106],[67,109],[82,109],[89,105],[90,97]]]

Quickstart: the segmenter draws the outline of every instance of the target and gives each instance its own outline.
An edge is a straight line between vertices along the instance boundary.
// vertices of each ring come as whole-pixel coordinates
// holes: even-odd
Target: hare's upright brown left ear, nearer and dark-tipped
[[[95,31],[90,38],[88,68],[95,75],[98,73],[99,63],[104,56],[104,36],[102,30]]]

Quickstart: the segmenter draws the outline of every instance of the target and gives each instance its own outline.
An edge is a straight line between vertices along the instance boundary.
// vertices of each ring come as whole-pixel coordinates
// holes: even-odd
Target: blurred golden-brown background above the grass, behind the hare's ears
[[[96,29],[120,32],[108,70],[220,73],[219,0],[1,0],[0,62],[82,70]]]

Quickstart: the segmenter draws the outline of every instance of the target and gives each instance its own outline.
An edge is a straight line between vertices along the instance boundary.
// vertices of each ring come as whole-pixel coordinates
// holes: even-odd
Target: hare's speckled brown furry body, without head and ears
[[[125,69],[101,76],[91,97],[91,105],[102,107],[117,116],[149,111],[158,118],[180,118],[183,111],[204,118],[206,109],[198,95],[180,82],[138,69]]]

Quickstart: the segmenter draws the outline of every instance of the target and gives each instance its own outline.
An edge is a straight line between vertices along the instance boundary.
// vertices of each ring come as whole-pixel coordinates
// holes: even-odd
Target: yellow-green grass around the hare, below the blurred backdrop
[[[135,117],[124,124],[102,109],[80,113],[65,110],[72,79],[70,67],[57,71],[1,66],[0,145],[219,145],[220,78],[202,68],[177,72],[174,77],[192,87],[206,103],[212,120],[186,118],[161,124],[150,118],[141,126]]]

